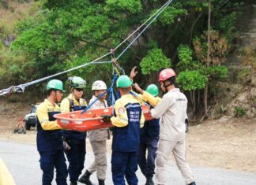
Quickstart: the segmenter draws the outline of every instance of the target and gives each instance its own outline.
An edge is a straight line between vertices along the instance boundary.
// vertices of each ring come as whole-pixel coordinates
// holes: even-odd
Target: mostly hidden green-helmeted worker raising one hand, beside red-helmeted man
[[[157,97],[159,90],[155,84],[150,84],[145,91],[141,90],[137,83],[135,83],[134,87],[141,93],[139,95],[143,100],[147,101],[147,99],[151,98],[151,94],[155,97],[156,102],[160,102],[161,98]],[[152,177],[155,174],[156,150],[160,132],[159,120],[160,119],[147,120],[145,121],[144,127],[141,128],[138,163],[141,172],[146,177],[145,185],[154,185]]]

